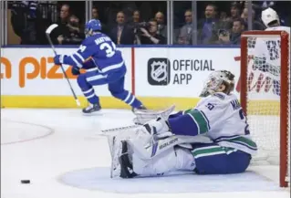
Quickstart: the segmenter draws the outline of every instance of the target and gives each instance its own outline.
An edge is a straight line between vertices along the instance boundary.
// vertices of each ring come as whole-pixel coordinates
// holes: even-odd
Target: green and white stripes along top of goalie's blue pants
[[[234,148],[227,148],[227,147],[221,147],[219,145],[213,145],[208,147],[202,147],[192,150],[192,155],[195,159],[205,157],[205,156],[211,156],[211,155],[219,155],[219,154],[230,154],[234,151],[237,151]]]

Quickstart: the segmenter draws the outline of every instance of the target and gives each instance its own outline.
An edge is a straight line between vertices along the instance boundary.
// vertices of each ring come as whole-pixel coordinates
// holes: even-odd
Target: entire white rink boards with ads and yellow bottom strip
[[[57,52],[72,54],[76,49],[57,48]],[[125,89],[130,91],[134,89],[135,95],[148,107],[161,108],[162,103],[167,105],[181,103],[182,107],[193,106],[199,100],[205,79],[214,70],[224,69],[233,72],[234,94],[238,97],[240,95],[240,48],[120,47],[119,49],[128,68]],[[29,96],[30,98],[26,99],[27,103],[36,107],[47,107],[47,98],[44,98],[43,102],[36,96],[49,96],[54,97],[49,98],[51,101],[49,107],[75,107],[68,83],[61,69],[53,63],[53,57],[54,54],[49,47],[2,48],[1,95],[2,99],[5,99],[5,102],[2,102],[7,105],[9,101],[8,107],[26,107],[26,103],[19,104],[19,97],[24,100],[24,97]],[[278,99],[280,92],[277,89],[278,78],[253,65],[254,62],[249,62],[251,68],[248,71],[250,83],[247,89],[251,92],[249,97]],[[70,67],[64,68],[77,95],[83,96],[76,77],[70,72]],[[107,85],[96,87],[95,90],[101,100],[105,97],[102,102],[105,107],[127,107],[120,100],[111,97]],[[73,103],[67,105],[68,99]],[[64,102],[59,102],[60,100]]]

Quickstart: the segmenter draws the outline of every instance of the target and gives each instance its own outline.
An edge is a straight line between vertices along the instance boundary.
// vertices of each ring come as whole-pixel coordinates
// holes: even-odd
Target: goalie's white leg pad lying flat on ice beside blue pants
[[[151,160],[142,160],[132,154],[133,172],[141,176],[159,176],[172,171],[193,171],[195,168],[192,153],[180,147],[171,148]]]

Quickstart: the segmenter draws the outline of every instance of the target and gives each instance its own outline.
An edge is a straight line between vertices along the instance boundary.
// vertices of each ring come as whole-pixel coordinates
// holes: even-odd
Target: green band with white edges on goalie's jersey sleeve
[[[210,130],[209,121],[207,120],[206,116],[203,114],[202,111],[198,109],[189,110],[188,115],[191,116],[192,120],[196,123],[197,127],[199,128],[198,134],[203,134]]]

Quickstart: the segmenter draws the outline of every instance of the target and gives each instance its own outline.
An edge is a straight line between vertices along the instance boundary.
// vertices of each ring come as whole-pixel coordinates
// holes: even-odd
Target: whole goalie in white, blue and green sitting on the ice
[[[150,120],[133,136],[115,142],[112,175],[131,178],[172,171],[244,172],[257,146],[233,90],[234,75],[214,71],[195,108],[171,114],[168,119]]]

